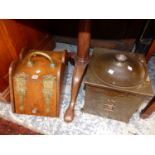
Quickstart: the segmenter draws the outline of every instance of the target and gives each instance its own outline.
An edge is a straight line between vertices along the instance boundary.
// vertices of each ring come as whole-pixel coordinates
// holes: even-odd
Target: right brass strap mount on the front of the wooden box
[[[51,100],[51,96],[53,95],[53,84],[55,79],[56,77],[52,75],[43,76],[42,93],[46,104],[46,109],[45,109],[46,113],[50,112],[50,100]]]

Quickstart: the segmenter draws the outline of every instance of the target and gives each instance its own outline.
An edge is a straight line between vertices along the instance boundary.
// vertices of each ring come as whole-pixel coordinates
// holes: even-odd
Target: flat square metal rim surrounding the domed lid
[[[135,84],[135,86],[132,86],[132,87],[125,87],[125,86],[119,87],[116,85],[109,84],[108,82],[105,82],[103,80],[104,77],[103,77],[103,79],[100,79],[98,76],[101,76],[101,71],[98,71],[97,75],[94,73],[95,72],[93,70],[94,69],[94,66],[93,66],[94,65],[94,59],[96,60],[97,57],[102,57],[102,55],[104,55],[104,53],[118,53],[118,52],[120,52],[120,51],[103,49],[103,48],[94,49],[93,56],[91,58],[91,61],[89,63],[86,75],[84,77],[85,84],[89,84],[89,85],[92,85],[95,87],[111,88],[111,89],[120,90],[123,92],[129,92],[129,93],[133,93],[133,94],[139,94],[139,95],[152,97],[154,95],[154,92],[152,89],[152,85],[151,85],[149,75],[147,73],[145,58],[142,54],[134,54],[135,58],[137,58],[135,61],[141,61],[142,67],[144,67],[144,70],[145,70],[144,71],[145,72],[145,78],[143,79],[143,81],[141,83],[139,83],[139,85]],[[119,74],[119,78],[121,79],[121,74]],[[130,81],[132,82],[132,80],[130,80]]]

